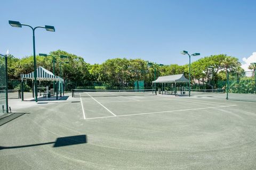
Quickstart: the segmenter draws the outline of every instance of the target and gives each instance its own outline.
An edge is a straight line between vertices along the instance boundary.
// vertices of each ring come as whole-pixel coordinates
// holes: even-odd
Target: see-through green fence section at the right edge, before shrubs
[[[229,100],[256,102],[255,76],[255,71],[228,73],[227,98]]]

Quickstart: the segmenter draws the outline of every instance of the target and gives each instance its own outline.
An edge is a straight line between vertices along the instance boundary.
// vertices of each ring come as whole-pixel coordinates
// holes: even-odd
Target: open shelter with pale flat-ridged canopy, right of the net
[[[158,77],[155,81],[152,81],[152,83],[162,83],[162,94],[163,94],[163,86],[165,87],[165,83],[174,83],[174,94],[176,95],[176,83],[188,83],[189,80],[185,78],[183,74],[176,74],[176,75],[167,75]]]

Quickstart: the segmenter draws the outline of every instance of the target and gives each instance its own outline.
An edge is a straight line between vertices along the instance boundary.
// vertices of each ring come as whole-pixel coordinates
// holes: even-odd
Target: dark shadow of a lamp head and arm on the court
[[[78,145],[78,144],[83,144],[83,143],[87,143],[87,137],[85,134],[75,135],[75,136],[71,136],[71,137],[57,138],[55,142],[37,143],[37,144],[32,144],[32,145],[22,145],[22,146],[12,146],[12,147],[0,146],[0,150],[36,147],[36,146],[50,145],[50,144],[54,144],[53,148],[57,148],[57,147],[64,147],[64,146],[70,146],[70,145]]]

